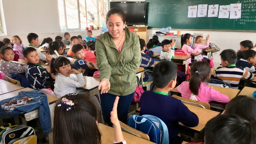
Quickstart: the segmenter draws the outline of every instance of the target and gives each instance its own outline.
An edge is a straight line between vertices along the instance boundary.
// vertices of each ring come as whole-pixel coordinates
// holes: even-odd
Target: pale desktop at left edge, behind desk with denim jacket
[[[15,90],[23,89],[24,87],[17,86],[10,82],[4,81],[0,79],[0,99],[2,99],[2,95],[8,92],[12,92]],[[3,99],[2,99],[3,100]]]

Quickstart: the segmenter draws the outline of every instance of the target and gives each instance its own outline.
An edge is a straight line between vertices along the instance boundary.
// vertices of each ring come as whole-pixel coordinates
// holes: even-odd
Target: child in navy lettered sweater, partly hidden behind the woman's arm
[[[147,70],[147,67],[153,66],[156,64],[155,60],[151,58],[150,56],[146,55],[144,53],[145,51],[145,41],[143,39],[139,39],[140,41],[140,49],[141,49],[141,64],[140,67],[142,67],[144,70]],[[153,81],[153,76],[151,72],[144,72],[144,78],[143,82],[147,81]],[[152,85],[153,87],[153,85]],[[150,88],[151,89],[151,88]]]

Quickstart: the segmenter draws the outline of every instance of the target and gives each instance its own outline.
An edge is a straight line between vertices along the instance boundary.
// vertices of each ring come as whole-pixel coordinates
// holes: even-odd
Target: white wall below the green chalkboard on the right
[[[155,33],[155,29],[148,29],[147,34],[151,35]],[[174,34],[177,34],[177,30],[171,30]],[[217,52],[214,62],[221,62],[221,57],[219,54],[224,49],[234,49],[237,52],[240,49],[240,42],[244,40],[250,40],[256,43],[256,33],[255,32],[229,32],[229,31],[196,31],[196,30],[181,30],[181,34],[185,33],[206,33],[210,35],[210,42],[215,43],[221,51]]]

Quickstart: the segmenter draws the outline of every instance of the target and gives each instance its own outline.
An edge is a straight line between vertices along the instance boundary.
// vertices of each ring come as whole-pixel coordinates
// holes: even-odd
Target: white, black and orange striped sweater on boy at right
[[[252,80],[254,78],[254,75],[251,72],[236,66],[218,67],[214,70],[213,75],[222,79],[224,82],[229,83],[234,89],[238,89],[238,84],[241,78],[246,80]]]

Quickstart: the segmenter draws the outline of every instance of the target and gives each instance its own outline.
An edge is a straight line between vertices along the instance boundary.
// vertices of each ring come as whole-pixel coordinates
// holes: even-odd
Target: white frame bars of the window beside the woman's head
[[[77,12],[78,12],[78,23],[79,23],[79,28],[74,28],[74,29],[68,29],[68,24],[67,24],[67,13],[66,13],[66,0],[63,0],[63,7],[64,7],[64,17],[65,17],[65,27],[66,27],[66,30],[61,30],[61,32],[68,32],[68,31],[85,31],[85,29],[81,29],[81,20],[80,20],[80,2],[79,0],[76,0],[77,1]],[[100,18],[99,18],[99,0],[97,0],[97,20],[100,21]],[[109,11],[109,2],[110,0],[105,0],[106,1],[106,12]],[[86,0],[84,0],[85,2],[85,11],[87,13],[87,5],[86,5]],[[87,18],[86,18],[86,25],[88,27],[88,21],[87,21]]]

